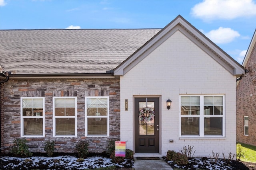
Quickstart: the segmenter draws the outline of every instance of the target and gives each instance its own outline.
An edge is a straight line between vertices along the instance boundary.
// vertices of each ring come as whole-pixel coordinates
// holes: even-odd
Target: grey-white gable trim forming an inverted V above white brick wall
[[[178,15],[174,20],[172,20],[156,35],[154,35],[154,37],[152,37],[147,43],[140,47],[140,49],[128,57],[119,66],[117,66],[114,69],[114,74],[118,76],[124,75],[177,30],[186,35],[186,37],[188,37],[191,41],[198,45],[198,47],[210,55],[210,57],[226,68],[226,70],[228,70],[232,75],[240,76],[244,74],[244,67],[241,64],[220,49],[220,47],[208,39],[202,32],[196,29],[196,27],[185,20],[181,15]]]

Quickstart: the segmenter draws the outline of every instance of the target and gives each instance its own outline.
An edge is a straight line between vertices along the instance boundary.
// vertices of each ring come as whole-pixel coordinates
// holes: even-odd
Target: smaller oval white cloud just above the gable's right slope
[[[219,27],[218,29],[205,33],[205,35],[216,44],[230,43],[236,37],[240,37],[238,31],[224,27]]]

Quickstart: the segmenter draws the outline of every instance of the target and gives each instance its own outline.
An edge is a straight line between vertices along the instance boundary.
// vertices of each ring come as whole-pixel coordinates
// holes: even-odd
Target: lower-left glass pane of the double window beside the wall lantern
[[[181,117],[181,135],[199,135],[199,117]]]

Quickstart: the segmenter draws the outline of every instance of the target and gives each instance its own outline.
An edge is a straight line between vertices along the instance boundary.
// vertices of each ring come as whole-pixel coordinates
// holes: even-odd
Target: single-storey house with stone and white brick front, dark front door
[[[197,157],[236,153],[236,79],[244,67],[181,16],[163,29],[0,36],[0,63],[16,71],[1,88],[2,146],[26,137],[31,151],[43,152],[53,139],[58,152],[74,152],[86,139],[102,152],[114,139],[136,156],[188,145]],[[154,113],[140,114],[145,107]]]

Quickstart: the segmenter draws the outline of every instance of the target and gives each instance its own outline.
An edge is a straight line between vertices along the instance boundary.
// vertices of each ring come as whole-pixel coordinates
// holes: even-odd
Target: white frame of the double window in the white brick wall
[[[181,115],[181,97],[198,96],[200,97],[200,115]],[[204,115],[204,97],[222,96],[223,98],[223,115]],[[225,95],[224,94],[204,94],[204,95],[180,95],[180,113],[179,113],[179,133],[180,137],[225,137]],[[199,117],[199,135],[181,135],[181,117]],[[222,117],[222,135],[204,135],[204,117]]]

